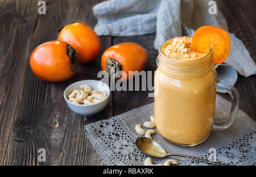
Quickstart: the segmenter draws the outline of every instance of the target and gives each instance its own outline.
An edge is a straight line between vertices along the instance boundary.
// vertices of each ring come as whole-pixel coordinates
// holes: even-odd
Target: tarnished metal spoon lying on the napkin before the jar
[[[179,157],[184,157],[184,158],[188,158],[188,159],[192,159],[200,162],[205,162],[205,163],[208,163],[209,165],[222,165],[222,166],[226,165],[220,162],[210,162],[208,159],[193,157],[191,155],[175,154],[175,153],[167,154],[162,146],[160,146],[158,143],[151,140],[150,138],[146,138],[146,137],[137,138],[136,146],[143,153],[150,155],[152,157],[164,158],[167,156],[179,156]]]

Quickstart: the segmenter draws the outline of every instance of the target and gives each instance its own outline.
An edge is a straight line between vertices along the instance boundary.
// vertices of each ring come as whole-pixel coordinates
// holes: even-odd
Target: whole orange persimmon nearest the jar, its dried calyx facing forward
[[[105,50],[101,57],[101,68],[108,71],[114,67],[115,74],[122,70],[126,77],[121,75],[122,81],[131,78],[129,71],[142,71],[148,60],[147,50],[137,43],[119,43]]]

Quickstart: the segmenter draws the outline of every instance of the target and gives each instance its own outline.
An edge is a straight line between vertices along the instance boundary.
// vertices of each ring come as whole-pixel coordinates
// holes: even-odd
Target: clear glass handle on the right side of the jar
[[[234,86],[230,85],[225,81],[218,81],[216,85],[218,89],[228,92],[228,94],[232,98],[232,106],[231,106],[229,118],[224,121],[215,122],[213,125],[214,130],[224,130],[226,128],[229,128],[230,125],[232,125],[237,118],[237,112],[239,109],[239,102],[240,102],[240,94],[237,91],[237,88],[235,88]]]

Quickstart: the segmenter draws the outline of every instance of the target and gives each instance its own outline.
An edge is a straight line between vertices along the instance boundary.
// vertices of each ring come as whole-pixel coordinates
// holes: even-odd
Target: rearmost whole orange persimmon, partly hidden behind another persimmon
[[[79,63],[93,61],[101,50],[100,39],[92,28],[83,23],[71,23],[60,30],[57,40],[65,41],[77,50]]]

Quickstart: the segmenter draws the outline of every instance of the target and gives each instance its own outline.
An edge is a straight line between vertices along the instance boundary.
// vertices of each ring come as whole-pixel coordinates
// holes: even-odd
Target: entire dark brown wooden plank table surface
[[[101,1],[46,1],[46,15],[38,14],[38,1],[0,1],[0,165],[104,165],[85,136],[84,125],[108,119],[154,101],[147,91],[113,91],[108,106],[96,116],[73,113],[64,102],[65,87],[82,79],[97,79],[101,54],[111,45],[135,42],[147,49],[146,70],[156,69],[155,34],[101,36],[101,54],[90,64],[79,65],[75,77],[50,83],[37,78],[29,60],[32,50],[55,40],[57,29],[82,22],[94,27],[92,7]],[[256,60],[256,1],[217,1],[229,30],[243,41]],[[242,57],[242,56],[241,56]],[[240,108],[255,120],[255,75],[238,78]],[[228,96],[224,95],[225,98]],[[55,128],[55,124],[59,127]],[[46,162],[38,162],[38,149],[46,149]]]

